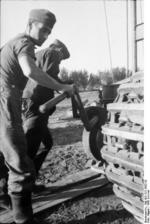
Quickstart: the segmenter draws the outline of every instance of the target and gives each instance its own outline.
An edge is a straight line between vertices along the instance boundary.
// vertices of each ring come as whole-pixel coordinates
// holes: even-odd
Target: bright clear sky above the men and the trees
[[[111,68],[102,0],[2,0],[1,45],[25,30],[29,11],[33,8],[46,8],[56,15],[57,23],[42,48],[55,38],[63,41],[71,53],[70,59],[62,63],[63,67],[69,70],[86,69],[92,73]],[[126,67],[126,1],[106,0],[106,10],[112,67]],[[129,10],[129,17],[130,14]],[[131,39],[131,32],[129,34]],[[130,68],[131,59],[130,50]]]

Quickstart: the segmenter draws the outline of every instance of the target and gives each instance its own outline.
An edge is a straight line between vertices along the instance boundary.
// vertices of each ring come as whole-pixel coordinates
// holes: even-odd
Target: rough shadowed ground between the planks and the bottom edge
[[[115,202],[115,206],[112,200],[106,202],[104,197],[108,198],[110,196],[112,200],[115,197],[112,191],[112,185],[108,184],[100,189],[77,197],[74,200],[70,200],[64,203],[64,205],[57,205],[51,209],[47,209],[42,213],[43,217],[40,216],[40,218],[45,219],[53,214],[55,219],[51,217],[49,220],[45,220],[45,224],[139,224],[139,222],[123,208],[121,202]],[[87,198],[89,198],[89,200],[90,198],[95,199],[89,201],[91,203],[87,206]],[[103,204],[104,201],[105,205]],[[92,214],[87,214],[87,211],[82,208],[83,205],[85,205],[85,209],[90,209],[91,207]],[[70,211],[67,210],[68,208],[70,208]],[[84,215],[81,216],[80,212],[83,212]],[[68,220],[64,220],[65,216],[68,217]]]

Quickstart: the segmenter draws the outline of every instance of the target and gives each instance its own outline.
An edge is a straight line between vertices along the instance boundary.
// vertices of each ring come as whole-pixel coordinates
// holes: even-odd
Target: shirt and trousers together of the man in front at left
[[[8,167],[8,192],[31,190],[35,179],[32,160],[27,156],[27,142],[22,128],[21,98],[27,78],[18,63],[22,55],[35,59],[34,43],[20,34],[1,48],[0,125],[1,147]]]

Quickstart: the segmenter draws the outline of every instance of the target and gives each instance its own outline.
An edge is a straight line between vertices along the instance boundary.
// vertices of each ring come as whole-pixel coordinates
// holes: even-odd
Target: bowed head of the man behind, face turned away
[[[49,47],[59,53],[60,61],[70,57],[70,53],[66,45],[58,39],[54,40],[53,43]]]

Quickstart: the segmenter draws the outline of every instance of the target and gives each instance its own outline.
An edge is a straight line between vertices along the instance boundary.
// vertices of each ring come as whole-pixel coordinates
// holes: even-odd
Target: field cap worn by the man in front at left
[[[55,15],[47,9],[33,9],[29,13],[29,19],[41,22],[45,27],[52,29],[55,22]]]

